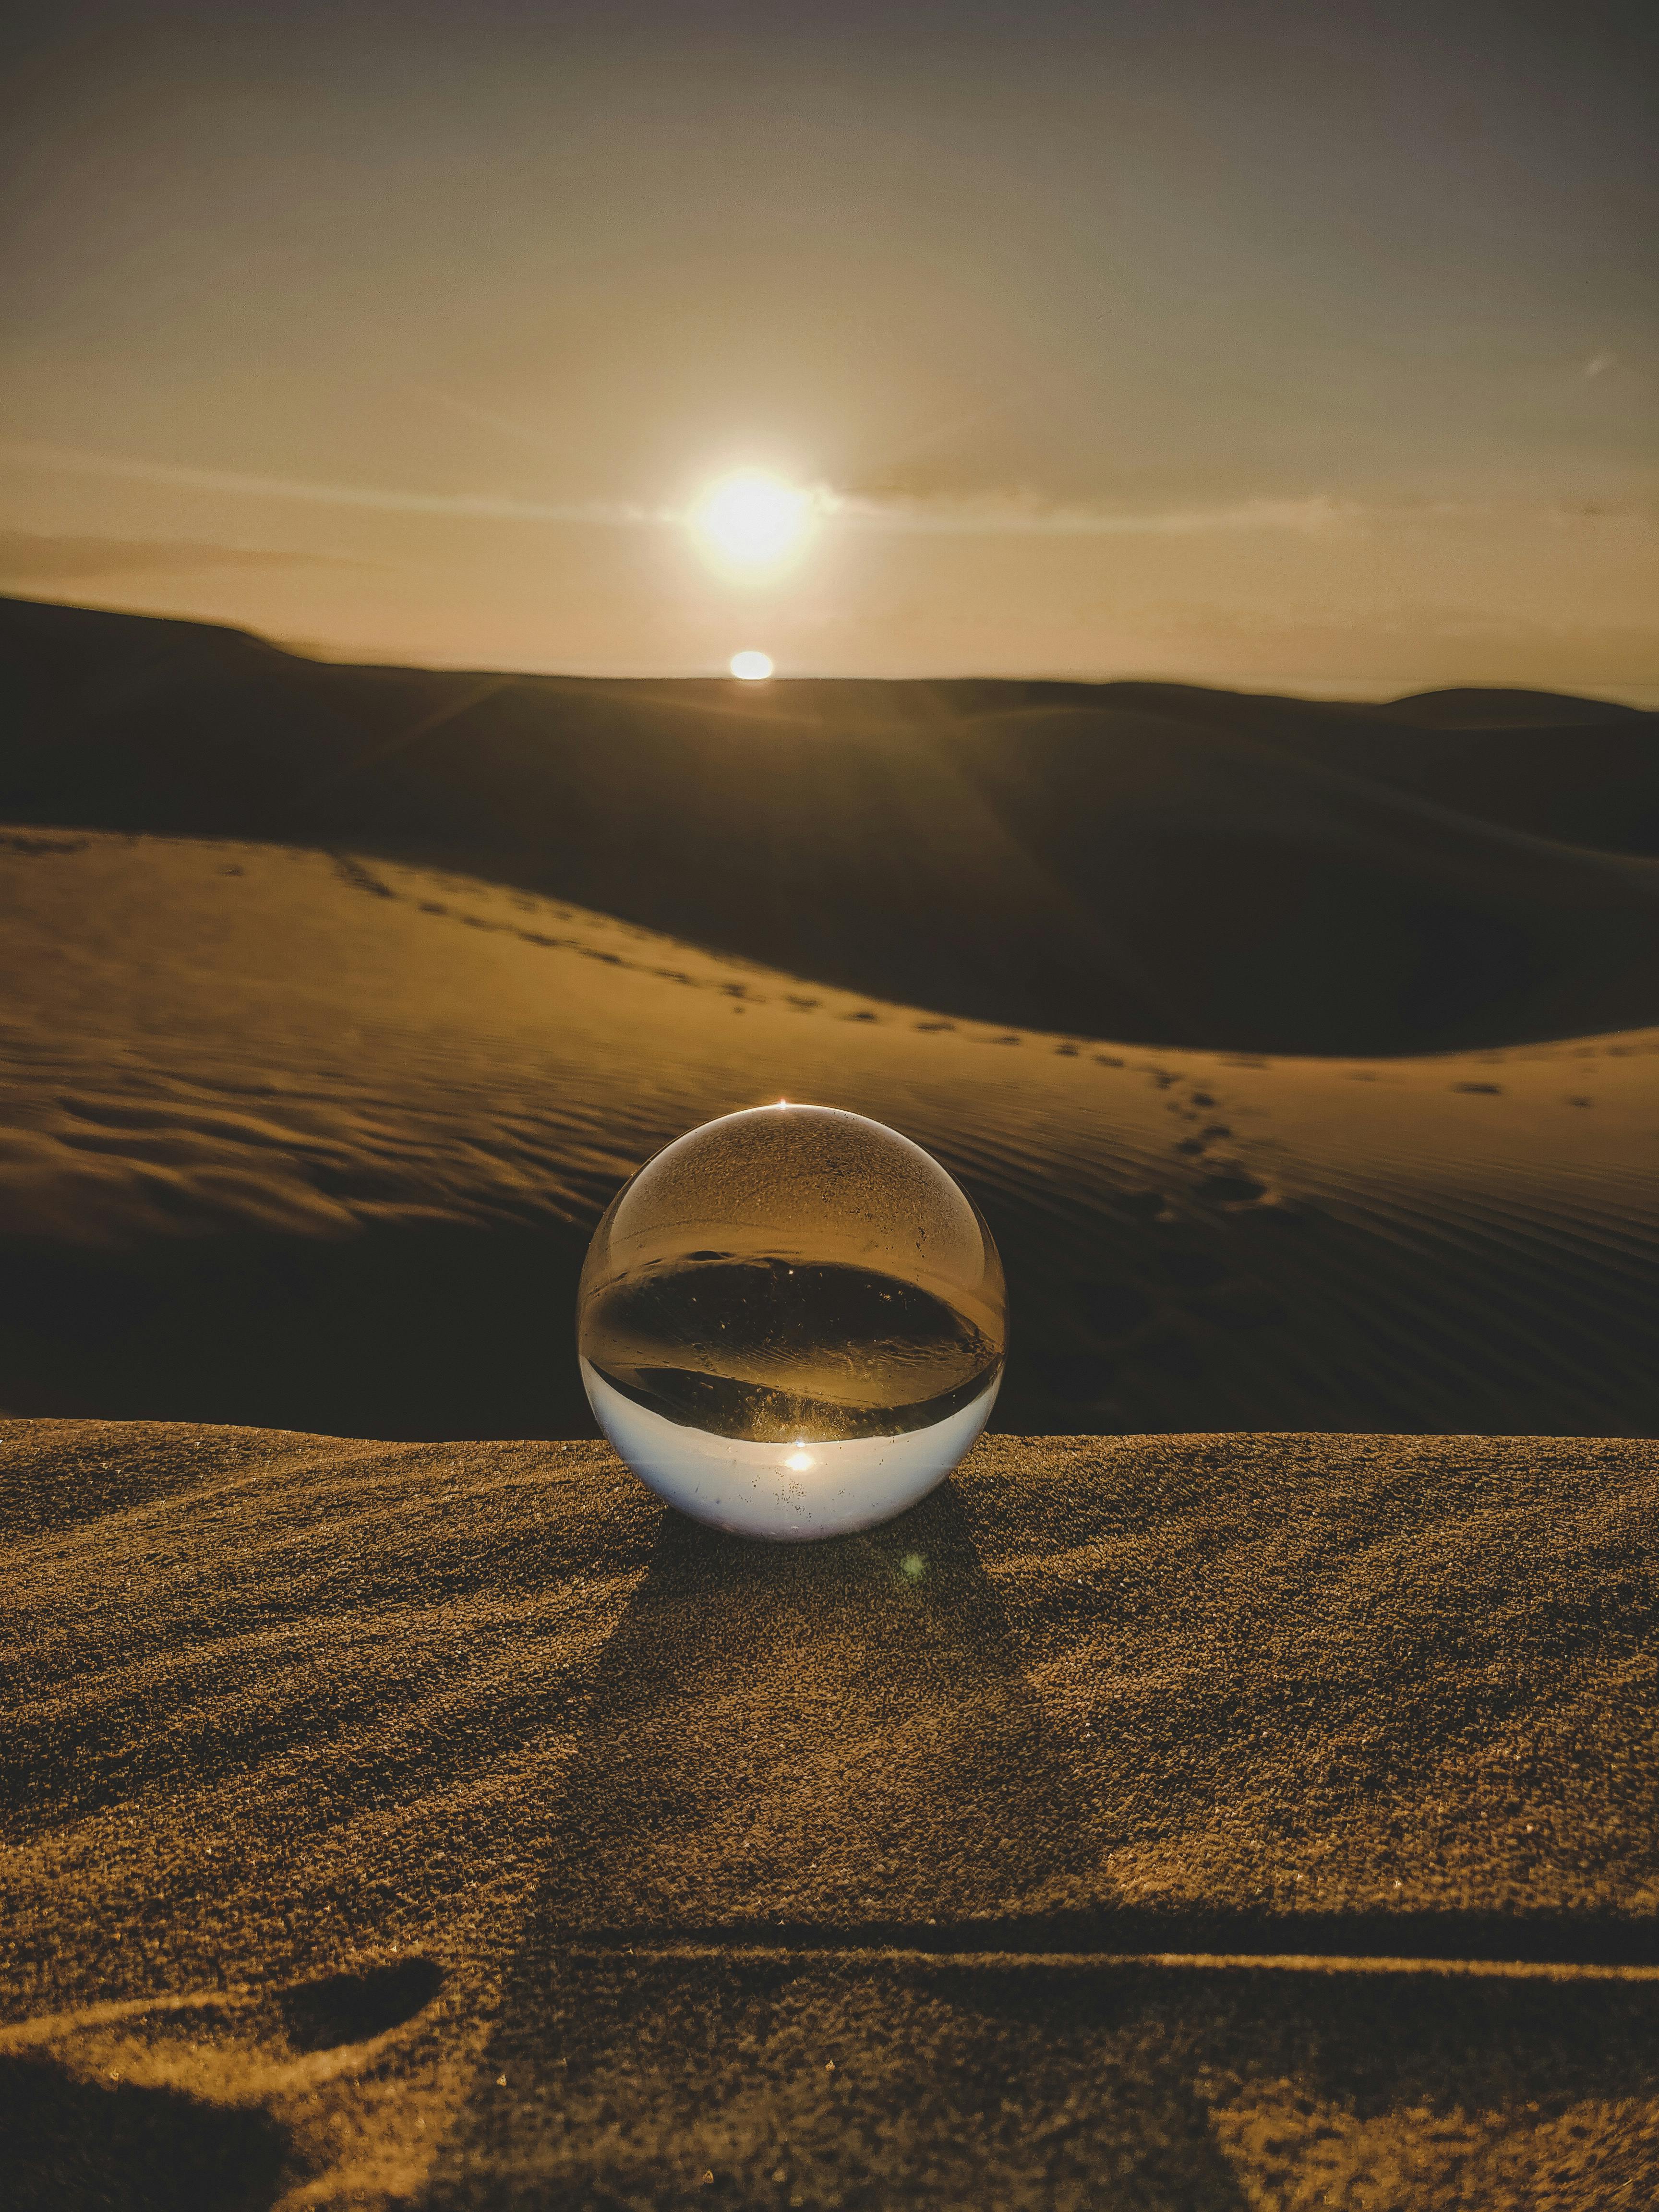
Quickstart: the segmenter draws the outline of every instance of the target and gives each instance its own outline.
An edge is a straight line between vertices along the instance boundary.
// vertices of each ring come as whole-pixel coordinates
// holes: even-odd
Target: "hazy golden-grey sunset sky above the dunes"
[[[0,591],[602,675],[1659,701],[1659,13],[77,7]],[[732,473],[781,557],[712,542]]]

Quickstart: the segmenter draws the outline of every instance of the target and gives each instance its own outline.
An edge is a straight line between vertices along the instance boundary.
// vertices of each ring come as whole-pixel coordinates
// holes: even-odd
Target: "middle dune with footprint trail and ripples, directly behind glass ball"
[[[591,1433],[593,1223],[774,1097],[1002,1248],[1011,1429],[1659,1427],[1659,1037],[1389,1062],[951,1022],[458,874],[0,836],[0,1405]]]

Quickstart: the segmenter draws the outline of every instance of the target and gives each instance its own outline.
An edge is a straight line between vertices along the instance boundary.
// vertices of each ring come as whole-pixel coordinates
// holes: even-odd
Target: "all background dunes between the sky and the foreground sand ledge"
[[[608,1192],[796,1095],[973,1188],[1009,1427],[1657,1425],[1652,717],[0,655],[0,1405],[584,1433]]]

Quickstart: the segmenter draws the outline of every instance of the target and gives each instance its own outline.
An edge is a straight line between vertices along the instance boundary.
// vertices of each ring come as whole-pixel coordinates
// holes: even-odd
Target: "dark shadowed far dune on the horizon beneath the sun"
[[[13,821],[447,860],[953,1015],[1290,1053],[1659,1020],[1655,717],[1595,701],[436,675],[29,602],[0,684]]]

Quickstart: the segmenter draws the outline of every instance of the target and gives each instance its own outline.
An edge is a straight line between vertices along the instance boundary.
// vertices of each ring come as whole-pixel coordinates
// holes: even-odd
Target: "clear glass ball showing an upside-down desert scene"
[[[593,1232],[588,1405],[695,1520],[805,1540],[891,1520],[995,1405],[1002,1261],[909,1137],[834,1106],[754,1106],[664,1146]]]

